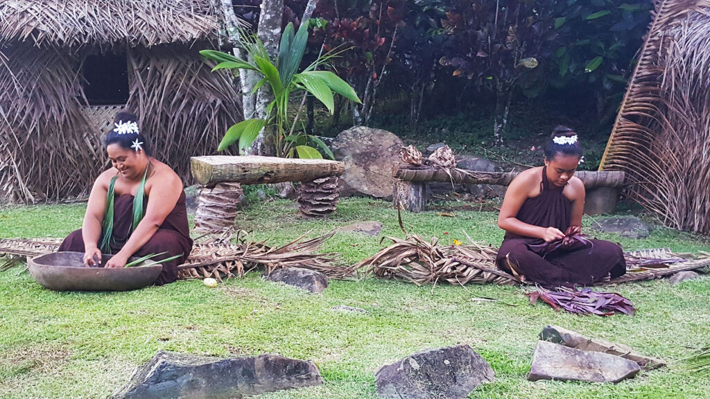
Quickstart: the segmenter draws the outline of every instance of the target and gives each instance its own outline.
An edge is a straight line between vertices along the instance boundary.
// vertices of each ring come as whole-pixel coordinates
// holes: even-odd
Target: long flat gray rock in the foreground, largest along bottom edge
[[[160,351],[111,398],[243,398],[322,383],[312,361],[268,354],[219,359]]]

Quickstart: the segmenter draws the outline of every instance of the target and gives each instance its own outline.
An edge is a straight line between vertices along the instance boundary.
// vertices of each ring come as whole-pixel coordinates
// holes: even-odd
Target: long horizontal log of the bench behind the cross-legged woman
[[[410,182],[454,182],[464,185],[509,185],[519,172],[479,172],[458,168],[398,168],[395,177]],[[574,173],[584,182],[586,189],[594,187],[621,187],[625,173],[618,170],[590,171]]]

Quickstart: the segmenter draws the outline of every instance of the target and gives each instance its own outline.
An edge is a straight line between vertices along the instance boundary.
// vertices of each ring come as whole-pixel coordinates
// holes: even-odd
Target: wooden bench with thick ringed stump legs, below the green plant
[[[229,196],[229,185],[236,186],[241,192],[241,185],[301,182],[298,195],[300,213],[305,217],[324,217],[335,212],[339,197],[338,176],[345,170],[344,163],[334,160],[258,155],[198,156],[190,158],[190,166],[192,176],[203,187],[198,198],[197,215],[212,215],[207,219],[221,223],[217,226],[221,228],[233,226],[236,217],[236,203],[234,209],[224,210],[225,201],[218,198]],[[230,217],[231,222],[226,221]]]

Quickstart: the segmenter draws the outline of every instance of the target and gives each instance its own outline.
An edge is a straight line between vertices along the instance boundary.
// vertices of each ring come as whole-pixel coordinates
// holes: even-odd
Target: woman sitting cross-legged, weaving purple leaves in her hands
[[[626,273],[620,246],[576,236],[584,211],[584,184],[574,177],[581,154],[577,133],[557,126],[545,146],[545,166],[510,183],[498,216],[506,231],[498,268],[549,288]]]

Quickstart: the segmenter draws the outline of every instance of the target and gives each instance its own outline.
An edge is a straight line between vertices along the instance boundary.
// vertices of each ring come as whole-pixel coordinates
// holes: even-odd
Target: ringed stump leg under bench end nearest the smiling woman
[[[197,197],[195,231],[213,233],[234,227],[237,209],[244,192],[239,183],[218,183],[212,188],[202,187]]]

